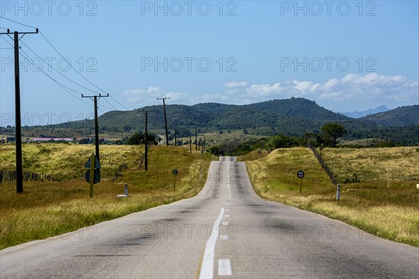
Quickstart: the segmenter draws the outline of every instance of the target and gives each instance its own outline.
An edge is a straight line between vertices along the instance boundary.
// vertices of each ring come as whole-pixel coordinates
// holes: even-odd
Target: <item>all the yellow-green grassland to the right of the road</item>
[[[323,159],[341,184],[336,187],[310,149],[277,149],[246,162],[256,193],[300,209],[342,220],[376,236],[419,247],[419,156],[417,148],[323,149]],[[246,157],[244,157],[246,158]],[[388,167],[393,166],[387,188]],[[297,171],[303,170],[302,193]],[[396,170],[397,169],[397,170]]]

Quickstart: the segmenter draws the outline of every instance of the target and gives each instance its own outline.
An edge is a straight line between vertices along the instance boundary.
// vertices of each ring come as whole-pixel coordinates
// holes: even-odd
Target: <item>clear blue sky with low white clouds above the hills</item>
[[[163,96],[186,105],[294,96],[335,112],[418,104],[418,10],[418,1],[0,1],[2,17],[38,27],[115,98],[100,100],[101,114]],[[4,18],[0,28],[33,31]],[[12,40],[1,37],[5,126],[13,125],[14,70]],[[47,40],[21,40],[24,124],[90,118],[91,101],[79,93],[103,91]]]

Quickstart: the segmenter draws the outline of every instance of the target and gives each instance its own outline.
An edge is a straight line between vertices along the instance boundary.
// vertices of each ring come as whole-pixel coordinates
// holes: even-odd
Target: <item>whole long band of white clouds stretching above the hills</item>
[[[142,89],[126,90],[122,96],[129,103],[155,105],[156,98],[170,97],[171,103],[192,105],[196,103],[249,104],[274,98],[303,97],[320,100],[332,107],[359,107],[367,102],[374,105],[406,105],[417,103],[419,82],[402,75],[348,74],[344,77],[330,78],[323,84],[310,80],[285,80],[272,84],[250,84],[247,82],[226,82],[225,91],[217,93],[184,93],[167,91],[150,86]],[[337,103],[336,103],[337,102]]]

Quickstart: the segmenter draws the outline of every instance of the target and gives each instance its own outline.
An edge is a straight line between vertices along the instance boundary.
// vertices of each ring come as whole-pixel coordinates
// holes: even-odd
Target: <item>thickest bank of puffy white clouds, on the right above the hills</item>
[[[253,102],[267,98],[305,97],[328,101],[385,101],[406,102],[417,100],[419,82],[402,75],[385,76],[378,73],[367,75],[348,74],[340,80],[332,78],[324,84],[312,81],[286,80],[275,84],[251,84],[242,90],[242,98]],[[307,97],[306,97],[307,98]]]

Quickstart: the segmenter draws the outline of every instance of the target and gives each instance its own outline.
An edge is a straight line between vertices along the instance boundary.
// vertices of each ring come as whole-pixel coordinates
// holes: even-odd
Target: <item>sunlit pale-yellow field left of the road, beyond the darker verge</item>
[[[23,144],[24,172],[51,174],[59,180],[84,177],[84,164],[91,153],[93,144]],[[119,165],[128,167],[140,165],[144,146],[101,145],[101,174],[103,179],[112,179]],[[0,169],[15,169],[15,145],[0,144]]]

